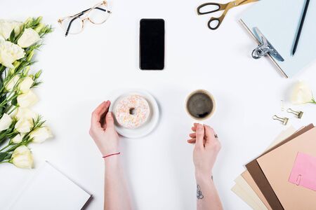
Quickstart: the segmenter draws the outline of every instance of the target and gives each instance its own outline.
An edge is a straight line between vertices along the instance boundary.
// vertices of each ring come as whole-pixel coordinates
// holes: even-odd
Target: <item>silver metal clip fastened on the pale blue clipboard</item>
[[[254,27],[254,32],[260,45],[258,45],[258,47],[252,51],[252,57],[254,57],[254,59],[258,59],[269,54],[272,57],[275,57],[275,59],[283,62],[283,57],[279,55],[279,52],[277,52],[277,50],[273,48],[272,44],[268,41],[267,38],[265,38],[265,36],[263,36],[261,31],[257,27]]]

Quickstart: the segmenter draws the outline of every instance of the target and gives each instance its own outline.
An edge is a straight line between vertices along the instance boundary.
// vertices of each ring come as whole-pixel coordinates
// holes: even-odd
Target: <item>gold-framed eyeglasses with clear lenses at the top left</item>
[[[103,22],[96,23],[96,22],[93,22],[93,20],[91,20],[91,19],[89,18],[89,13],[91,12],[91,10],[97,8],[98,6],[102,6],[102,5],[107,8],[107,1],[102,1],[102,2],[100,2],[100,3],[97,3],[95,6],[89,8],[89,9],[87,9],[87,10],[83,10],[81,13],[77,13],[77,14],[75,14],[75,15],[71,15],[71,16],[67,16],[67,17],[65,17],[65,18],[60,18],[60,19],[58,19],[58,23],[59,23],[60,27],[61,27],[62,30],[64,30],[65,33],[66,33],[65,36],[67,36],[68,34],[79,34],[79,33],[81,33],[81,32],[84,30],[84,22],[85,22],[86,20],[90,21],[90,22],[91,22],[92,24],[94,24],[94,25],[101,25],[101,24],[103,24],[105,21],[107,21],[107,19],[110,17],[110,14],[112,13],[110,10],[108,10],[108,8],[107,8],[107,10],[105,11],[105,13],[109,13],[109,17],[107,17]],[[81,18],[82,15],[86,15],[86,18]],[[70,33],[71,22],[68,24],[67,29],[64,29],[64,27],[62,27],[62,21],[66,20],[66,19],[70,19],[70,18],[78,18],[79,20],[81,20],[81,30],[80,30],[79,32],[77,32],[77,33]],[[72,20],[74,20],[74,19],[72,19]]]

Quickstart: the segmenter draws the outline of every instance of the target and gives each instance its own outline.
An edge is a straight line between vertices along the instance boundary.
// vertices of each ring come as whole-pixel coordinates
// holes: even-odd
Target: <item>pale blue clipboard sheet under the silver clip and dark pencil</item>
[[[258,27],[265,38],[284,58],[270,57],[284,76],[292,77],[316,58],[316,0],[310,1],[294,56],[291,55],[305,0],[261,0],[242,14],[240,22],[254,35]]]

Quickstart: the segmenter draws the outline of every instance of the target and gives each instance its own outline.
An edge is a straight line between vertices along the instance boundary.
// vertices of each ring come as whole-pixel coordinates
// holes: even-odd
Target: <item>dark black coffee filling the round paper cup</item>
[[[187,111],[194,118],[206,118],[213,111],[213,100],[204,92],[196,92],[187,99]]]

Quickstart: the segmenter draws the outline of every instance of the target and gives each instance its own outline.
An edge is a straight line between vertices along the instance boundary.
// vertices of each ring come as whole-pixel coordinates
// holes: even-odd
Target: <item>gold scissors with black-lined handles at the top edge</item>
[[[219,18],[212,17],[207,23],[207,26],[209,27],[209,29],[216,30],[218,29],[220,24],[223,22],[223,19],[225,18],[226,13],[228,13],[228,10],[236,6],[240,6],[240,5],[255,2],[255,1],[258,1],[258,0],[236,0],[236,1],[230,1],[229,3],[213,3],[213,2],[203,3],[197,7],[197,14],[206,15],[209,13],[215,13],[217,11],[224,10],[223,14],[220,15]],[[202,12],[203,8],[207,8],[210,6],[213,7],[213,9]]]

